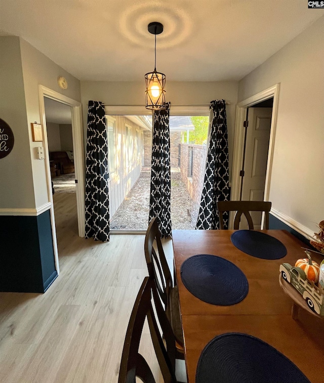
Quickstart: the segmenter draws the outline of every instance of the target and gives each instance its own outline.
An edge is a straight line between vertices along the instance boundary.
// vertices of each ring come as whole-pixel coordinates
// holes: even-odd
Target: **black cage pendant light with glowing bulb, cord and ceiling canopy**
[[[161,23],[153,22],[149,23],[147,27],[148,31],[155,35],[154,46],[154,70],[145,74],[146,83],[146,109],[161,110],[165,109],[165,86],[166,75],[156,71],[156,35],[163,32],[163,25]]]

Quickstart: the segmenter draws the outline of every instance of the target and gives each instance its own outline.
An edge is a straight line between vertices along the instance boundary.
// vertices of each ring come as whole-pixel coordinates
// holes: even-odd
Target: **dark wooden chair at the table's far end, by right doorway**
[[[223,212],[236,211],[234,217],[234,230],[238,230],[239,222],[242,214],[245,215],[249,230],[253,230],[253,221],[250,211],[264,211],[264,229],[269,229],[269,211],[271,209],[271,202],[266,201],[218,201],[217,209],[219,214],[219,226],[220,229],[224,229]]]

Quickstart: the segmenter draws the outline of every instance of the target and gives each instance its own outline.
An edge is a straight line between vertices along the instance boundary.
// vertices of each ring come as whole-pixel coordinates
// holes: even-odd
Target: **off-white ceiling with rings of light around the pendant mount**
[[[307,0],[1,0],[0,35],[17,35],[80,80],[239,80],[324,10]]]

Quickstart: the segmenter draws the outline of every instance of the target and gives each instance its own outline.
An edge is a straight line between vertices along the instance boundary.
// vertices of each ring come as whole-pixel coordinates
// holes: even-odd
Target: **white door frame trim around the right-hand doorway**
[[[243,124],[247,115],[247,109],[255,104],[258,104],[261,101],[268,100],[269,98],[272,98],[272,97],[273,97],[273,106],[272,106],[272,115],[271,115],[271,128],[270,128],[267,170],[266,170],[266,179],[265,179],[265,187],[264,187],[264,201],[267,201],[269,199],[275,130],[276,130],[276,123],[277,123],[277,110],[278,110],[278,101],[279,101],[279,83],[275,84],[274,86],[260,93],[257,93],[254,96],[249,97],[246,100],[239,102],[236,105],[233,163],[232,163],[231,200],[239,199],[239,188],[240,188],[239,172],[241,170],[241,165],[243,160],[244,132],[245,132],[245,127],[243,126]],[[263,222],[261,224],[261,227],[262,226],[263,226]]]

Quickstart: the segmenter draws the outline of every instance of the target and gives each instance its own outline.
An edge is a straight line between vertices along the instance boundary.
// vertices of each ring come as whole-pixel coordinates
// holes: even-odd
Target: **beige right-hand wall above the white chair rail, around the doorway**
[[[269,199],[317,231],[324,219],[324,16],[239,82],[238,101],[280,83]]]

